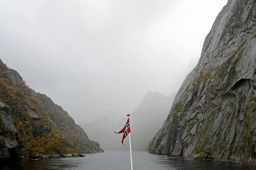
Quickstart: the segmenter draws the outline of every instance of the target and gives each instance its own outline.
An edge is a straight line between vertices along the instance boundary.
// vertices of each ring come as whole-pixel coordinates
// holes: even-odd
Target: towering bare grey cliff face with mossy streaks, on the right
[[[256,163],[255,13],[228,0],[149,152]]]

